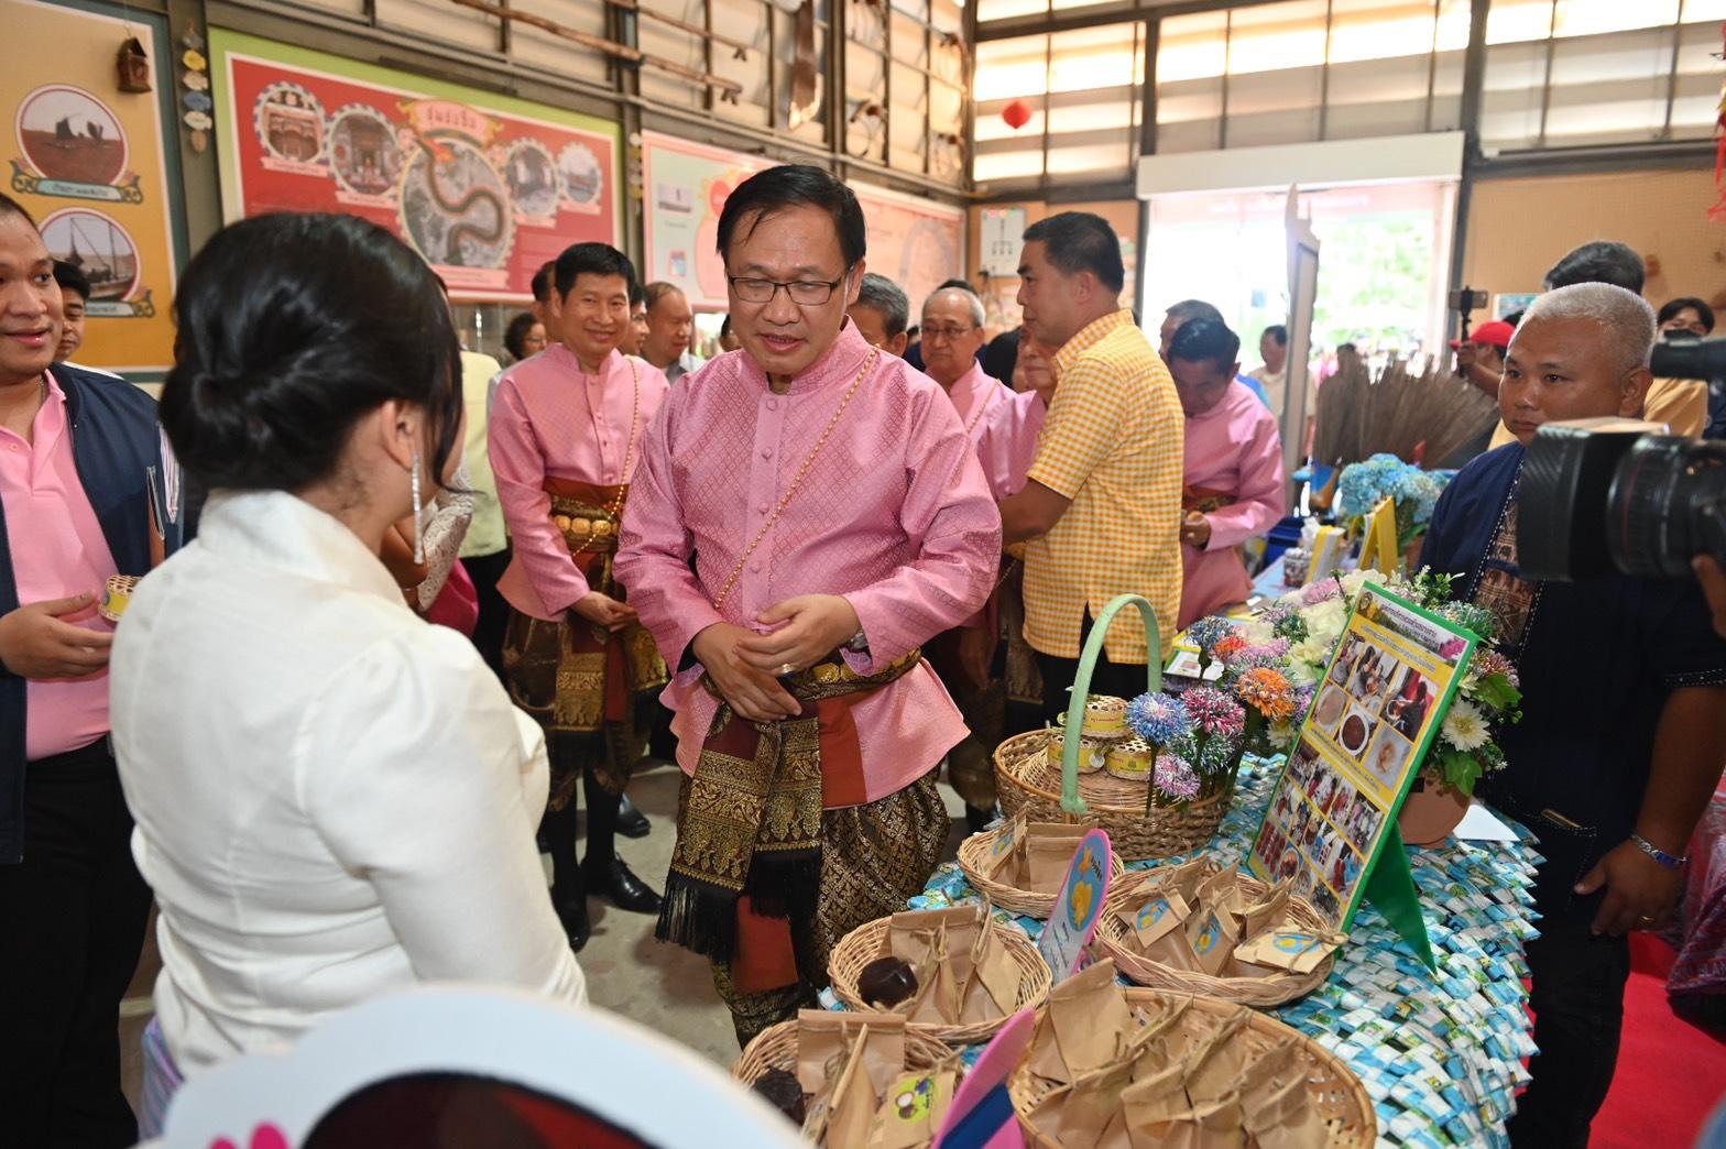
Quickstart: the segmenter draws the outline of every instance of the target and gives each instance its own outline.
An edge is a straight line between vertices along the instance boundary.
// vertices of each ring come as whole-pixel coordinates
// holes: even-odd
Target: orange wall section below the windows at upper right
[[[1712,169],[1484,179],[1469,205],[1464,283],[1538,292],[1546,269],[1578,243],[1619,240],[1648,262],[1643,293],[1726,304],[1726,223]]]

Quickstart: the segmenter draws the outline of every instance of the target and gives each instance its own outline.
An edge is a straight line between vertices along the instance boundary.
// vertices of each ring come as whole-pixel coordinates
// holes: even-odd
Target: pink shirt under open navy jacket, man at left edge
[[[31,438],[0,428],[0,507],[12,547],[17,600],[47,602],[93,593],[119,573],[97,512],[78,478],[67,430],[66,392],[48,373],[48,393]],[[114,628],[95,606],[60,621],[90,630]],[[109,675],[31,678],[24,683],[24,761],[90,745],[109,731]]]

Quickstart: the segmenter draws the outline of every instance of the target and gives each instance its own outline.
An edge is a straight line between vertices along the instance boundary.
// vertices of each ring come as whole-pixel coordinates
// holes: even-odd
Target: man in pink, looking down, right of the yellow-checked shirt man
[[[1213,319],[1186,321],[1169,345],[1186,412],[1181,626],[1246,602],[1253,580],[1241,543],[1288,512],[1282,435],[1270,409],[1236,381],[1239,354],[1239,336]]]

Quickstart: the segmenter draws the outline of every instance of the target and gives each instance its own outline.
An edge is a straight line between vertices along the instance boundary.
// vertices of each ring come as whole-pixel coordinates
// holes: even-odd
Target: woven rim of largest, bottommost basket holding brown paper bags
[[[1125,994],[1129,1006],[1167,1006],[1170,997],[1191,997],[1189,994],[1167,994],[1151,989],[1129,989]],[[1182,1014],[1182,1025],[1196,1025],[1201,1014],[1213,1014],[1219,1020],[1227,1018],[1239,1006],[1193,997],[1191,1008]],[[1255,1054],[1286,1040],[1296,1042],[1294,1056],[1305,1066],[1307,1092],[1324,1118],[1326,1133],[1329,1133],[1324,1140],[1324,1149],[1370,1149],[1377,1142],[1379,1118],[1372,1111],[1372,1097],[1367,1096],[1367,1087],[1360,1083],[1360,1078],[1355,1077],[1355,1071],[1341,1058],[1300,1030],[1289,1028],[1262,1013],[1248,1018],[1236,1040],[1250,1042]],[[1013,1071],[1008,1089],[1013,1094],[1013,1108],[1018,1109],[1018,1123],[1025,1130],[1025,1140],[1041,1149],[1067,1149],[1060,1142],[1044,1137],[1030,1123],[1030,1109],[1043,1101],[1048,1087],[1030,1075],[1029,1064],[1020,1064]]]

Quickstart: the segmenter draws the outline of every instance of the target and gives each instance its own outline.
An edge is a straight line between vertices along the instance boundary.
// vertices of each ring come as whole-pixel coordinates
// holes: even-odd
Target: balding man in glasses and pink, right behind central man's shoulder
[[[923,373],[953,400],[994,497],[1006,499],[1025,483],[1048,402],[1039,392],[1013,392],[984,374],[977,361],[984,343],[982,324],[984,307],[975,292],[937,288],[923,300]],[[1015,481],[1018,487],[1013,487]],[[965,801],[972,832],[989,823],[996,804],[992,754],[1006,721],[1006,695],[994,671],[999,633],[1001,609],[991,595],[989,606],[975,618],[929,644],[929,661],[972,730],[948,754],[948,776]]]

